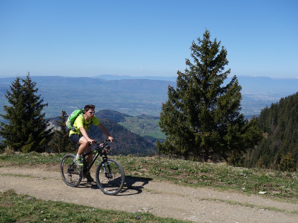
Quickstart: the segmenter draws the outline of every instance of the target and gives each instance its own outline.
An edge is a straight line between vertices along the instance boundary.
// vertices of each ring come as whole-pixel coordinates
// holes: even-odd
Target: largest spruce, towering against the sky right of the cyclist
[[[241,110],[241,86],[236,76],[224,84],[230,69],[227,51],[220,41],[210,40],[208,30],[190,47],[193,62],[178,71],[176,90],[168,87],[168,100],[162,104],[159,126],[167,136],[157,142],[159,152],[208,160],[242,156],[259,142],[262,133],[255,121],[248,122]],[[233,159],[232,159],[233,160]]]

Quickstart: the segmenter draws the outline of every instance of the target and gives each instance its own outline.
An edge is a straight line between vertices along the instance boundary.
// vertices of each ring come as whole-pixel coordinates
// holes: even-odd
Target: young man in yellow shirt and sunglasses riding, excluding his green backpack
[[[109,132],[106,130],[106,128],[100,123],[100,121],[97,119],[97,117],[94,116],[94,105],[86,105],[84,107],[84,117],[82,115],[79,115],[77,119],[75,120],[74,127],[75,131],[70,130],[69,132],[69,138],[72,142],[77,143],[79,146],[79,149],[77,151],[77,156],[74,159],[75,164],[77,167],[83,167],[82,163],[82,153],[86,151],[86,153],[91,152],[91,145],[94,145],[95,141],[93,139],[90,139],[87,133],[87,129],[90,127],[91,124],[97,125],[107,136],[108,139],[113,142],[114,138],[109,134]],[[91,121],[92,120],[92,121]],[[87,163],[90,164],[92,161],[92,155],[86,156]],[[93,178],[90,175],[90,172],[87,174],[87,181],[93,182]]]

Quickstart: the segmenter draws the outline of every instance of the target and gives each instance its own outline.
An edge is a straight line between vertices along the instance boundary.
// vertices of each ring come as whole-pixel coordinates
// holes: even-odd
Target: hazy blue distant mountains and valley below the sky
[[[167,100],[167,87],[176,86],[176,77],[133,77],[100,75],[95,77],[30,76],[37,82],[38,93],[48,102],[46,117],[56,117],[61,110],[67,113],[87,103],[98,110],[111,109],[130,115],[159,116],[162,103]],[[242,87],[242,112],[247,118],[280,98],[298,91],[298,78],[269,78],[238,76]],[[6,89],[15,78],[0,78],[0,113],[7,104]],[[227,78],[225,82],[229,81]]]

